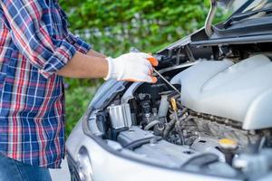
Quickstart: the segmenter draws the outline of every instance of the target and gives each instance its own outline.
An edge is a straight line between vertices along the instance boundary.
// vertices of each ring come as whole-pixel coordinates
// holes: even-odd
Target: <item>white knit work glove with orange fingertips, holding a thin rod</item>
[[[146,81],[151,83],[157,81],[157,78],[152,76],[152,66],[158,66],[158,61],[150,54],[129,52],[116,59],[108,57],[106,60],[109,64],[109,71],[105,80]]]

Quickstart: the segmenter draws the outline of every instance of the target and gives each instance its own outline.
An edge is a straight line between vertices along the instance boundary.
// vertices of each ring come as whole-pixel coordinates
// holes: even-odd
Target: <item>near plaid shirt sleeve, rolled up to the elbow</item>
[[[75,47],[58,37],[50,10],[40,0],[3,0],[0,2],[9,22],[15,46],[48,78],[73,58]],[[47,8],[48,7],[48,8]]]

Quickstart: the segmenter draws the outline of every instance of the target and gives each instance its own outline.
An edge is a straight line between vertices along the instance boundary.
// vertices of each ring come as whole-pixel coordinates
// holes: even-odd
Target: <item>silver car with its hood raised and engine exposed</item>
[[[219,5],[233,14],[213,25]],[[105,81],[66,141],[73,180],[272,180],[271,13],[211,0],[203,28],[154,53],[157,83]]]

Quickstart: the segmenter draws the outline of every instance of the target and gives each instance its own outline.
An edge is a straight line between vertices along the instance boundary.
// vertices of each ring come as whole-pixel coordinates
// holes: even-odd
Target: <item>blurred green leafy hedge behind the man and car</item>
[[[156,52],[203,26],[209,0],[60,0],[73,33],[116,57],[137,47]],[[219,10],[214,23],[228,14]],[[66,79],[66,137],[102,80]]]

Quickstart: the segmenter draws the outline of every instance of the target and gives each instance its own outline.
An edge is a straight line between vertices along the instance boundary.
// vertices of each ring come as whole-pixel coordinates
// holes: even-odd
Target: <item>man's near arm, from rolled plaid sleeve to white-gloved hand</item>
[[[152,65],[156,66],[158,63],[149,62],[152,58],[149,54],[130,52],[116,59],[102,58],[103,55],[97,52],[84,54],[90,51],[90,47],[80,46],[83,45],[82,41],[76,41],[78,51],[72,43],[56,39],[53,34],[58,33],[53,27],[50,28],[55,22],[50,22],[50,19],[44,22],[42,18],[44,12],[48,12],[42,9],[43,1],[3,0],[0,5],[10,23],[16,47],[45,79],[57,73],[73,78],[157,81],[152,76]],[[93,56],[94,54],[99,57]]]

